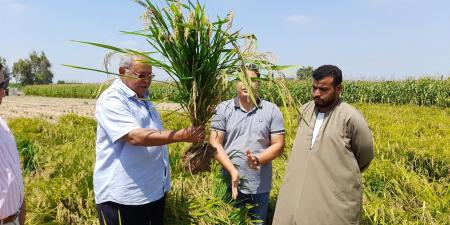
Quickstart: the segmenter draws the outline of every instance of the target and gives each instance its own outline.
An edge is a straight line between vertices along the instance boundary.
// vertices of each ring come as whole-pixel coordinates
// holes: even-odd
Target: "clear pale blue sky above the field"
[[[206,8],[211,17],[233,11],[234,28],[256,34],[279,64],[335,64],[344,79],[450,75],[450,1],[208,0]],[[12,67],[44,51],[55,82],[101,82],[103,74],[61,66],[102,67],[105,50],[70,40],[150,50],[119,32],[141,29],[143,11],[131,0],[0,0],[0,56]]]

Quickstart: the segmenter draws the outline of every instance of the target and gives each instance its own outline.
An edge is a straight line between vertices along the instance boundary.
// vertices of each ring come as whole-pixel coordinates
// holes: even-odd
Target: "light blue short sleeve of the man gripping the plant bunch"
[[[116,142],[130,131],[140,128],[133,117],[126,99],[119,96],[105,96],[97,104],[96,117],[99,126],[108,137]]]

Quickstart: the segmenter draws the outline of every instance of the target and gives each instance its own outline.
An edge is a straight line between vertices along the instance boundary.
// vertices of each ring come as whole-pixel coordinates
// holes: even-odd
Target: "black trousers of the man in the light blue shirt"
[[[97,204],[100,225],[163,225],[166,196],[145,205]],[[119,221],[120,220],[120,221]]]

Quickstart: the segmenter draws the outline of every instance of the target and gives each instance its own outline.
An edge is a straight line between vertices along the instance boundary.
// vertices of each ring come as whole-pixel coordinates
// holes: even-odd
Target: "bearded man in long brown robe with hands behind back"
[[[361,172],[373,159],[372,134],[361,113],[341,102],[341,82],[336,66],[313,72],[314,100],[302,106],[274,225],[359,223]]]

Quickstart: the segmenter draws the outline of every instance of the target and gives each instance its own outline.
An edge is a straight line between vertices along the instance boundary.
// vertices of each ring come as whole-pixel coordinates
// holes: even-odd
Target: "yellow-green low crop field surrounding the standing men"
[[[363,174],[362,224],[450,224],[450,109],[355,106],[368,119],[375,139],[375,159]],[[162,117],[169,129],[188,125],[176,114]],[[287,147],[274,161],[271,212],[295,136],[295,120],[286,121]],[[19,118],[8,124],[23,162],[27,224],[97,224],[92,190],[95,120],[67,115],[58,123]],[[169,147],[172,189],[167,224],[247,224],[245,212],[227,203],[217,165],[212,172],[195,176],[182,169],[187,146]]]

